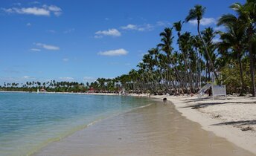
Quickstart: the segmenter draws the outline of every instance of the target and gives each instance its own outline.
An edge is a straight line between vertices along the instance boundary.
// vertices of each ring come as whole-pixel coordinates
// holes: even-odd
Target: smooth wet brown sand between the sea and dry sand
[[[253,155],[201,129],[173,104],[118,115],[54,142],[35,155]]]

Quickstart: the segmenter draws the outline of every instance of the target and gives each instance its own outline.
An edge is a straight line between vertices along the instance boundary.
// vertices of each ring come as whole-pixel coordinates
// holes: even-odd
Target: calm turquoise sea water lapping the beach
[[[0,93],[0,155],[31,155],[74,131],[150,103],[123,96]]]

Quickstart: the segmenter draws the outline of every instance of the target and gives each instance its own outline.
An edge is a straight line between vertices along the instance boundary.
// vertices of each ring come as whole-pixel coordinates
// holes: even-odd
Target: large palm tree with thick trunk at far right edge
[[[221,17],[219,25],[227,25],[233,22],[236,22],[241,29],[244,29],[248,46],[247,50],[249,51],[250,59],[250,73],[252,79],[252,96],[256,96],[255,88],[255,42],[256,42],[256,2],[255,0],[247,0],[246,4],[234,3],[231,6],[237,13],[237,17],[232,14],[225,14]]]

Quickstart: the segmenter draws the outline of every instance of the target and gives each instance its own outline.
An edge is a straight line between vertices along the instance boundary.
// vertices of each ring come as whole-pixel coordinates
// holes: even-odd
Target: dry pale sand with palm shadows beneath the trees
[[[182,116],[199,123],[202,129],[212,131],[217,136],[223,137],[256,155],[255,97],[228,97],[228,100],[212,100],[212,98],[204,97],[200,100],[199,97],[151,96],[151,98],[156,99],[164,97],[175,105],[176,110]],[[227,110],[226,107],[231,110]],[[232,112],[243,107],[247,108],[240,110],[239,114]],[[249,110],[251,111],[248,112]],[[246,127],[249,127],[249,129],[246,130]]]

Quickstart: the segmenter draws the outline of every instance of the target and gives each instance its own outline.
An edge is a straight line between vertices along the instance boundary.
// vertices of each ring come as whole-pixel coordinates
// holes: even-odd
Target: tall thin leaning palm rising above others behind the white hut
[[[205,13],[205,7],[202,7],[202,5],[195,5],[195,6],[193,7],[193,9],[191,9],[191,10],[189,11],[188,16],[186,17],[185,21],[186,21],[186,22],[189,22],[189,21],[191,21],[191,20],[193,20],[193,19],[196,19],[196,20],[197,20],[197,33],[198,33],[198,35],[199,35],[199,38],[200,38],[201,41],[202,41],[203,47],[205,48],[205,54],[206,54],[206,56],[208,57],[208,61],[209,61],[209,64],[210,64],[210,66],[211,66],[211,70],[214,72],[214,75],[215,75],[216,79],[219,80],[219,79],[218,79],[218,76],[217,76],[217,73],[216,73],[216,71],[214,70],[214,65],[213,65],[213,62],[211,61],[211,56],[210,56],[210,54],[209,54],[209,52],[208,52],[208,49],[207,49],[207,47],[206,47],[206,45],[205,45],[205,42],[204,42],[203,39],[202,39],[202,36],[201,36],[201,33],[200,33],[200,29],[199,29],[200,21],[201,21],[201,19],[202,19],[202,15],[203,15],[204,13]]]

